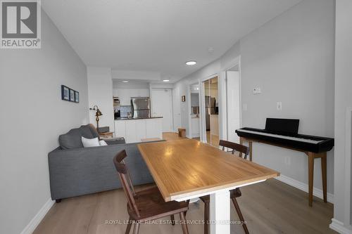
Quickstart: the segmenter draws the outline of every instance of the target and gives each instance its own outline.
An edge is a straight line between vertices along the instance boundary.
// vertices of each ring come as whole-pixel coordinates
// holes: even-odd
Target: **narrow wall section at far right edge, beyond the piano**
[[[346,165],[349,159],[351,161],[351,151],[345,152],[347,144],[346,131],[346,110],[352,108],[352,1],[336,1],[336,53],[335,53],[335,148],[334,148],[334,219],[341,222],[340,224],[350,229],[351,219],[351,202],[350,189],[351,183],[351,162]],[[348,121],[348,119],[347,119]],[[351,120],[349,120],[351,121]],[[351,148],[350,148],[351,149]],[[346,162],[347,161],[347,162]],[[349,166],[349,167],[346,167]],[[348,176],[349,175],[349,176]],[[350,197],[348,197],[348,194]],[[349,214],[348,214],[349,213]],[[338,223],[338,222],[337,222]],[[333,223],[336,224],[336,223]]]

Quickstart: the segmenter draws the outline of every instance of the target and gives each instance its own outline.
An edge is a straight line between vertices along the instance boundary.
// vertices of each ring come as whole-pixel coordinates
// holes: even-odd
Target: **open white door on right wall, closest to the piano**
[[[235,133],[240,128],[239,72],[227,72],[227,141],[239,143]]]

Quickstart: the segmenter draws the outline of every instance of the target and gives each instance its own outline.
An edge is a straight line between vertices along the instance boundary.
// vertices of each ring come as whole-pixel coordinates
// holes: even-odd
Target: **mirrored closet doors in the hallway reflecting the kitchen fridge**
[[[219,147],[219,95],[218,76],[207,79],[203,85],[206,143]]]

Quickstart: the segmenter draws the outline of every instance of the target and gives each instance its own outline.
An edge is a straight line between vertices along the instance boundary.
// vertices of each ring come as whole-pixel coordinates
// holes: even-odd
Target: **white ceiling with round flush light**
[[[299,1],[45,0],[42,6],[86,65],[159,72],[175,82]],[[198,63],[187,66],[188,60]]]

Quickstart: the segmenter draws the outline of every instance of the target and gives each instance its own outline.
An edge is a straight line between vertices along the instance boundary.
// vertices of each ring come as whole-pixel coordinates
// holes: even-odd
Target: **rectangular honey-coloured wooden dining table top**
[[[166,202],[279,176],[279,172],[196,140],[141,143]]]

